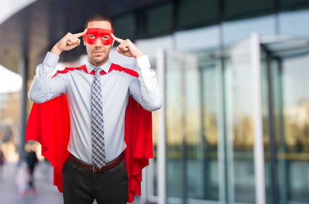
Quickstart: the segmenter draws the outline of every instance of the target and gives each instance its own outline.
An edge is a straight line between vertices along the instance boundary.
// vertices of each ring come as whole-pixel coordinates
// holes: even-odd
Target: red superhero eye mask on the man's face
[[[102,28],[88,28],[87,33],[84,35],[84,40],[88,44],[93,44],[99,38],[102,44],[109,45],[113,42],[111,33],[114,34],[114,31]]]

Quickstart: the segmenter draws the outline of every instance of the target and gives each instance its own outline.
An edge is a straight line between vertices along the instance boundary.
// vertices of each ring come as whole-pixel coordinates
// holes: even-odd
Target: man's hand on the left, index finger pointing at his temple
[[[50,50],[51,53],[56,54],[60,56],[62,51],[68,51],[75,47],[77,47],[80,44],[79,37],[83,36],[87,33],[87,29],[85,29],[81,33],[67,33],[60,41],[58,41],[53,48]]]

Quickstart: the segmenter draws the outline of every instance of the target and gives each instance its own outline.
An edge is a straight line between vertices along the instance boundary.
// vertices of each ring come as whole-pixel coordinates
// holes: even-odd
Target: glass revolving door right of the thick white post
[[[309,200],[309,52],[304,41],[262,45],[266,188],[270,204]]]

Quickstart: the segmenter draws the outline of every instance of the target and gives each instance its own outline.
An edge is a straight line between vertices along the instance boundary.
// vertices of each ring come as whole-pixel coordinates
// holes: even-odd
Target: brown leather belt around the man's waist
[[[117,165],[119,165],[122,162],[123,158],[124,158],[124,156],[123,156],[123,152],[122,152],[120,154],[120,156],[117,157],[115,160],[113,160],[112,162],[106,163],[105,165],[102,166],[102,168],[98,168],[95,165],[90,165],[88,163],[84,163],[84,162],[81,162],[80,160],[77,160],[71,153],[69,155],[69,160],[71,162],[75,163],[76,165],[78,165],[80,167],[83,167],[85,169],[91,170],[94,173],[96,173],[96,172],[104,172],[104,171],[106,171],[108,169],[116,167]]]

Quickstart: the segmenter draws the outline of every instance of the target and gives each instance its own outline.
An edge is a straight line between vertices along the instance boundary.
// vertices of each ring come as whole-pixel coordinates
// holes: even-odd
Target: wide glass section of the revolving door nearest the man
[[[206,54],[166,59],[169,198],[219,200],[216,73],[216,61]]]

